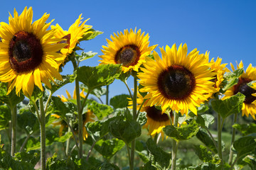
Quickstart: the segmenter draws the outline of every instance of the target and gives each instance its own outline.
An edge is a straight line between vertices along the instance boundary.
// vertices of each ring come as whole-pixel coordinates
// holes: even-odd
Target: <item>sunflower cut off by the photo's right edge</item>
[[[232,63],[230,63],[231,68],[233,71],[235,71],[235,67]],[[243,68],[242,61],[238,64],[237,68]],[[225,91],[225,98],[230,98],[231,96],[238,94],[240,92],[241,94],[245,95],[245,101],[242,103],[242,116],[246,115],[249,117],[249,115],[252,115],[252,118],[256,120],[255,113],[256,113],[256,96],[254,94],[256,93],[255,86],[247,86],[247,83],[250,83],[251,81],[256,80],[256,68],[252,67],[252,64],[249,64],[246,71],[239,77],[238,84],[235,84],[234,86],[230,87],[227,91]]]

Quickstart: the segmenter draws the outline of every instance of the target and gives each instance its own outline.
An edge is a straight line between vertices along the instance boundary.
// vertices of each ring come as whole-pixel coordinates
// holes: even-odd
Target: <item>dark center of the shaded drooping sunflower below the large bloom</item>
[[[146,115],[156,122],[165,122],[169,120],[168,115],[166,113],[161,113],[155,106],[146,106]],[[169,113],[172,116],[172,113]]]

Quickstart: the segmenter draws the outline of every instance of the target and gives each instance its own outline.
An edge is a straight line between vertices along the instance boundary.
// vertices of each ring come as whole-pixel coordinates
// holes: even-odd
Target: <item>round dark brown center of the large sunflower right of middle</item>
[[[172,65],[159,74],[157,85],[164,97],[183,100],[193,91],[196,86],[196,80],[193,74],[185,67]]]

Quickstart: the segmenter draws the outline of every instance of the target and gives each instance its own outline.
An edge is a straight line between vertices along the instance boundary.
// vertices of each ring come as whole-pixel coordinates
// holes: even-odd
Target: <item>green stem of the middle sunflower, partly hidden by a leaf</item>
[[[134,77],[134,96],[132,98],[132,115],[133,119],[137,120],[137,89],[138,89],[138,82],[137,78]],[[132,140],[131,146],[131,166],[130,169],[134,169],[134,155],[135,155],[135,139]]]

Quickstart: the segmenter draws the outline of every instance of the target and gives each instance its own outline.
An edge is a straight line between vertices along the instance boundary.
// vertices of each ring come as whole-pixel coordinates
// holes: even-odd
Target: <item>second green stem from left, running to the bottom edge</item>
[[[41,170],[46,170],[46,113],[43,108],[43,97],[39,98],[39,108],[41,114]]]

